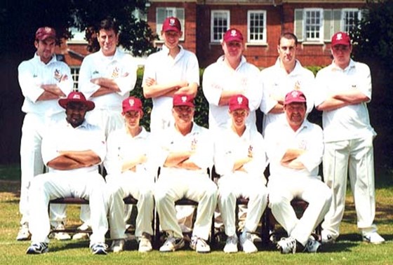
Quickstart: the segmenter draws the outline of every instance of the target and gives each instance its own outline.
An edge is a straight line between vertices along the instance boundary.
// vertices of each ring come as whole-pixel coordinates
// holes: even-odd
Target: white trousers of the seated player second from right
[[[241,171],[223,175],[218,179],[218,208],[227,236],[234,236],[236,233],[235,210],[239,197],[248,198],[244,230],[254,232],[267,205],[265,179]]]

